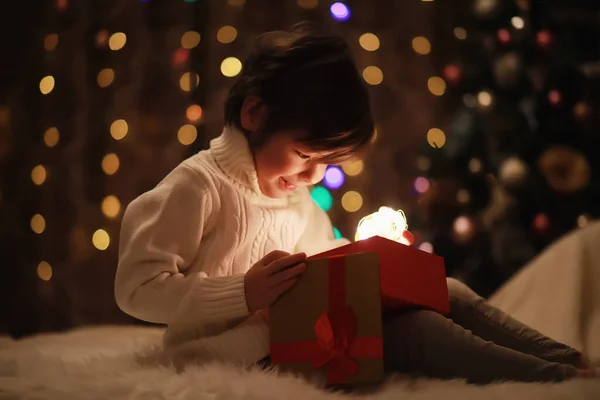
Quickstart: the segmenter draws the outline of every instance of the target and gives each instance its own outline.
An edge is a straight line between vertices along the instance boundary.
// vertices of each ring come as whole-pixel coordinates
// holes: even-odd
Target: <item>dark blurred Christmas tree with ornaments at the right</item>
[[[448,112],[417,159],[409,220],[449,275],[487,295],[600,214],[598,5],[475,0],[455,10],[444,34],[456,51],[429,80]]]

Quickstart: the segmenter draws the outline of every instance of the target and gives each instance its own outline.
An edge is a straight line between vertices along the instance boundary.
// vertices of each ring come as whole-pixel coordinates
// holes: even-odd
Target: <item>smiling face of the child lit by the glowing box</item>
[[[300,186],[314,185],[325,175],[327,154],[314,152],[297,138],[302,132],[278,132],[254,151],[260,190],[265,196],[284,197]]]

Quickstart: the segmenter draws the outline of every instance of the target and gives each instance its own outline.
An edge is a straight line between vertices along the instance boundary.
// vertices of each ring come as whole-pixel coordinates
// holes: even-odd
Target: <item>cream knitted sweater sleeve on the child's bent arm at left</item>
[[[249,314],[244,275],[185,273],[202,237],[210,234],[219,206],[213,181],[185,164],[129,204],[115,278],[121,310],[162,324],[219,323]]]

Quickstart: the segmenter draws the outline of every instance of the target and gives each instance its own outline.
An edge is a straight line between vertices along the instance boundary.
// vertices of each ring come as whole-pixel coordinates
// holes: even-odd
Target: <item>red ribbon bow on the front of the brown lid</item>
[[[349,306],[324,311],[315,322],[317,344],[320,352],[313,359],[313,367],[319,368],[331,363],[337,371],[345,371],[350,376],[358,371],[358,364],[348,355],[348,348],[356,334],[358,321]]]

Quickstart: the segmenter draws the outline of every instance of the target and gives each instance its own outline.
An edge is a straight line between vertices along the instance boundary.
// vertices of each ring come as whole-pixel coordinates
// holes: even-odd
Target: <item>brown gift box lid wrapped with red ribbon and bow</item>
[[[383,379],[378,256],[311,259],[269,308],[271,363],[330,385]]]

